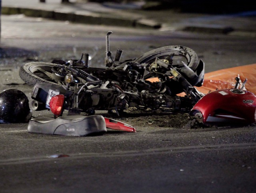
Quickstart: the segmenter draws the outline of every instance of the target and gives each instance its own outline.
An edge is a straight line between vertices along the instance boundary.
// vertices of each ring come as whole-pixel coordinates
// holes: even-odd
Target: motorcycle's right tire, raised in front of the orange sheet
[[[138,59],[135,61],[147,65],[149,63],[153,63],[156,57],[158,57],[158,59],[165,59],[170,54],[183,57],[187,61],[185,63],[187,63],[188,67],[190,67],[193,71],[196,71],[196,68],[200,62],[199,57],[194,50],[182,45],[170,45],[151,50],[138,57]]]

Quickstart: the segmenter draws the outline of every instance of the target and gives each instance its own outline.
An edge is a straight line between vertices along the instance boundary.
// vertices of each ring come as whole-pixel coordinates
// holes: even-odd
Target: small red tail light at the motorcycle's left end
[[[50,110],[55,116],[61,116],[63,112],[64,95],[58,94],[53,96],[50,101]]]

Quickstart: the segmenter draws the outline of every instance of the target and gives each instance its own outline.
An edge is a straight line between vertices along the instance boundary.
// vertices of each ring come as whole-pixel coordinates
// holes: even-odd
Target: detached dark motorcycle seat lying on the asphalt
[[[28,123],[28,132],[57,134],[64,136],[88,136],[107,132],[104,117],[101,115],[60,116],[57,119],[37,117]]]

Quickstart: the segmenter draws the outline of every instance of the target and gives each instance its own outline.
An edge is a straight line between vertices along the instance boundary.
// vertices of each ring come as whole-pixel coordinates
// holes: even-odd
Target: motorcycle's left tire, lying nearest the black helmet
[[[21,77],[25,83],[31,86],[35,85],[36,83],[51,83],[60,85],[50,77],[46,76],[46,74],[42,73],[42,71],[51,73],[51,68],[55,66],[57,66],[57,64],[46,62],[26,63],[25,65],[21,66],[19,70],[19,77]]]

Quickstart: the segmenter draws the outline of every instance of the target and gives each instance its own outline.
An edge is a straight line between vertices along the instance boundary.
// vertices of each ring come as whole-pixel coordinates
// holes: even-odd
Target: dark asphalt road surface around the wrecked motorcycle
[[[19,79],[30,61],[90,52],[101,66],[104,35],[124,59],[165,45],[199,54],[205,71],[256,61],[256,40],[223,34],[159,32],[2,16],[0,89],[32,88]],[[50,112],[33,112],[51,116]],[[0,125],[0,192],[256,192],[255,127],[198,130],[136,126],[102,136],[30,134],[28,124]],[[66,156],[56,158],[56,155]]]

